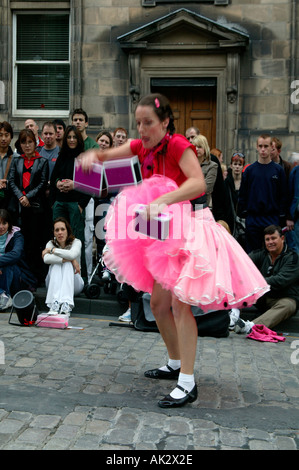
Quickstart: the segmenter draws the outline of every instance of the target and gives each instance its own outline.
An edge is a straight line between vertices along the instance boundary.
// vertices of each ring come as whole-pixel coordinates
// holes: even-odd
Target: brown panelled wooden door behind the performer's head
[[[216,90],[214,86],[152,88],[169,99],[176,132],[185,135],[188,127],[198,127],[210,148],[216,147]]]

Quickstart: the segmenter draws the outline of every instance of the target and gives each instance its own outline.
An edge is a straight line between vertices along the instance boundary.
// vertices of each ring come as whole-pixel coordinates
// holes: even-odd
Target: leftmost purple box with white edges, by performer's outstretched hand
[[[93,163],[92,171],[85,173],[81,166],[74,166],[74,189],[90,194],[94,197],[103,197],[107,192],[107,181],[102,162]]]

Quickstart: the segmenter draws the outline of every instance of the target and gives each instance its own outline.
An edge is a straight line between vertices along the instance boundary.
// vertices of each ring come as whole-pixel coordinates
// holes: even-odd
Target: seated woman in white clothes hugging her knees
[[[74,296],[82,292],[84,281],[80,274],[82,243],[72,233],[64,217],[54,220],[54,238],[43,251],[44,263],[49,264],[46,277],[46,305],[49,315],[70,315]]]

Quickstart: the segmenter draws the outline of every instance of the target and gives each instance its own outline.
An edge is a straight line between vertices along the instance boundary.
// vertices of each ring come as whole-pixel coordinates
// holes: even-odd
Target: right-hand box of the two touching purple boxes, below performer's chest
[[[120,158],[104,162],[108,192],[117,192],[126,186],[138,184],[141,170],[138,157]]]

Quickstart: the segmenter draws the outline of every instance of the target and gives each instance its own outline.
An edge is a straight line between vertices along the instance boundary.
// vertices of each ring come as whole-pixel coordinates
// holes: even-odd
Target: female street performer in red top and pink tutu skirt
[[[169,360],[166,366],[146,371],[145,376],[178,379],[175,389],[158,403],[163,408],[178,407],[197,398],[198,331],[191,305],[205,312],[249,306],[269,288],[206,206],[196,149],[174,133],[167,98],[160,94],[142,98],[135,118],[140,139],[104,152],[86,152],[78,164],[88,172],[99,160],[139,157],[144,181],[121,191],[106,217],[109,251],[105,262],[121,282],[151,293],[151,308]],[[161,212],[172,217],[166,240],[134,232],[139,204],[146,206],[147,219]]]

